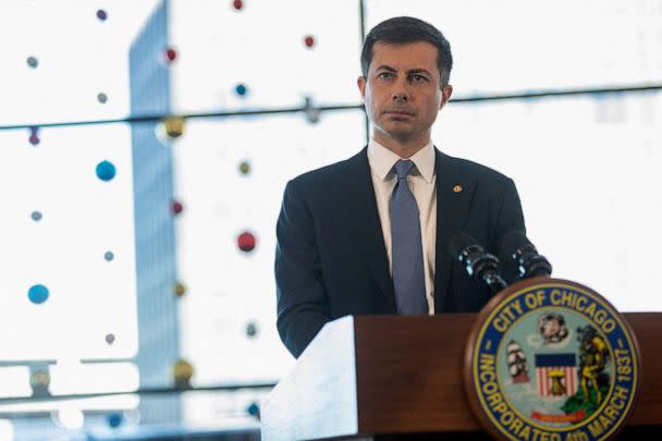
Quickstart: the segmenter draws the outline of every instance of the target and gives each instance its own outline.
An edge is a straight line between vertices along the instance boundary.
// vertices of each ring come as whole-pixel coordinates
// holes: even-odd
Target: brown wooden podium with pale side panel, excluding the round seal
[[[662,433],[662,314],[624,317],[639,341],[642,380],[622,438],[648,438]],[[262,403],[262,440],[480,436],[462,376],[475,319],[347,316],[327,323]]]

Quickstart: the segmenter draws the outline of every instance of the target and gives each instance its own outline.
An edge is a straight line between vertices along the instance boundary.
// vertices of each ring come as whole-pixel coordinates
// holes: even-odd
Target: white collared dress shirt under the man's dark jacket
[[[400,158],[375,139],[368,143],[368,163],[377,210],[381,221],[381,231],[384,235],[387,256],[389,257],[389,270],[393,275],[392,268],[392,241],[391,241],[391,216],[390,204],[393,188],[397,177],[392,170],[395,162],[401,159],[409,159],[416,166],[407,176],[409,188],[418,205],[420,220],[420,234],[422,243],[422,264],[426,279],[426,297],[428,301],[428,314],[434,315],[434,252],[437,245],[437,173],[434,171],[434,148],[432,142],[418,150],[410,158]]]

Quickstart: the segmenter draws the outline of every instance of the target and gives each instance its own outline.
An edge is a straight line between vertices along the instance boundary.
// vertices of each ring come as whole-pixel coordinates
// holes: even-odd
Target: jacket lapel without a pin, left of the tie
[[[389,259],[377,210],[367,151],[367,148],[364,148],[348,160],[347,183],[351,185],[346,193],[347,200],[353,201],[352,210],[357,213],[353,219],[356,220],[357,236],[363,242],[365,262],[389,307],[395,311],[393,280],[389,271]]]

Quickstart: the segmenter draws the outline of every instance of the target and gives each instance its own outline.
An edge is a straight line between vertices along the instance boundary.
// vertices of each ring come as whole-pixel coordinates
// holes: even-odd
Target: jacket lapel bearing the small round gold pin
[[[434,149],[437,171],[437,246],[434,265],[434,311],[443,313],[453,258],[449,253],[451,237],[466,224],[474,180],[463,173],[461,162]]]

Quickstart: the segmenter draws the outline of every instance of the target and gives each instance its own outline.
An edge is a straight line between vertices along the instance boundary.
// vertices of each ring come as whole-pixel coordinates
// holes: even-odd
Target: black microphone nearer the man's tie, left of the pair
[[[499,272],[499,259],[486,253],[470,235],[455,234],[451,238],[449,250],[454,259],[465,266],[467,274],[478,282],[486,283],[492,294],[506,287],[506,283]]]

